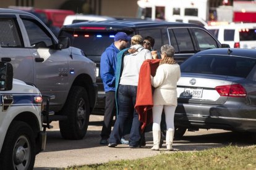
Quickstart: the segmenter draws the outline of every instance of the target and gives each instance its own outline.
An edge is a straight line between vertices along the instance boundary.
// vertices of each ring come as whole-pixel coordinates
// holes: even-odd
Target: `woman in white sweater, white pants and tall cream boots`
[[[168,44],[161,47],[161,58],[156,75],[151,77],[151,84],[156,87],[153,94],[153,147],[159,150],[160,123],[164,109],[166,120],[166,147],[173,150],[174,111],[177,107],[177,81],[181,76],[179,65],[174,60],[174,47]]]

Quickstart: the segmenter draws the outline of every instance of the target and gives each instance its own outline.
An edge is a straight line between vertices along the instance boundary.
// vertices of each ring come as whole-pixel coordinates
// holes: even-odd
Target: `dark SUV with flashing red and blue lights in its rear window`
[[[100,78],[100,57],[111,43],[114,34],[124,31],[129,36],[140,34],[155,38],[154,49],[160,51],[163,44],[174,46],[175,59],[181,63],[198,51],[209,48],[220,48],[221,43],[203,26],[178,22],[152,22],[147,20],[106,20],[100,22],[81,22],[65,25],[59,36],[71,39],[71,46],[82,49],[85,55],[96,63],[98,100],[93,113],[103,114],[105,92]]]

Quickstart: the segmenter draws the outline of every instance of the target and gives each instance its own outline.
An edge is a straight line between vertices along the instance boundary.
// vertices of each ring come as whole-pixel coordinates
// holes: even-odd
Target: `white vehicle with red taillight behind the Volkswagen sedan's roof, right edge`
[[[231,23],[205,26],[223,44],[230,47],[256,49],[256,23]]]

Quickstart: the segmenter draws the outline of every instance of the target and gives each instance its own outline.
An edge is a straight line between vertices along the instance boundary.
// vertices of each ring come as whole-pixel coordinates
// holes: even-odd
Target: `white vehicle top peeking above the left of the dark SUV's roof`
[[[103,21],[103,20],[116,20],[116,18],[103,16],[103,15],[67,15],[63,25],[69,25],[78,22],[88,22],[88,21]]]

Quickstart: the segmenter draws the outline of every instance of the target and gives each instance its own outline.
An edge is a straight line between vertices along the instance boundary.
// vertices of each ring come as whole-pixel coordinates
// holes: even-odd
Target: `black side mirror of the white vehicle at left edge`
[[[12,64],[0,62],[0,91],[11,91],[13,77]]]

